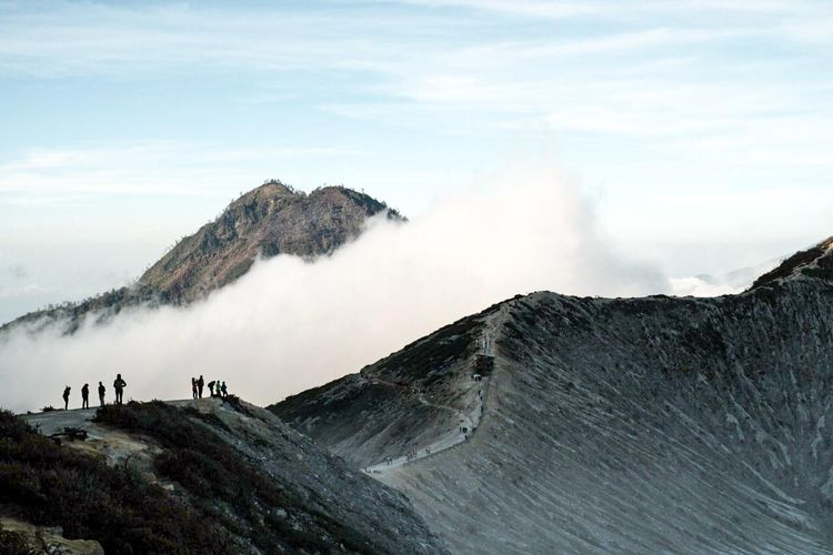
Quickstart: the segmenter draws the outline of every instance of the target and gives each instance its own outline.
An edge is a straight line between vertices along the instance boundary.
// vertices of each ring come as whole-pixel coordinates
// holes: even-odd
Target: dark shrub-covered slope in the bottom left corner
[[[201,516],[124,467],[56,445],[0,411],[0,505],[97,539],[107,553],[217,553],[220,536]],[[6,553],[0,549],[0,553]]]

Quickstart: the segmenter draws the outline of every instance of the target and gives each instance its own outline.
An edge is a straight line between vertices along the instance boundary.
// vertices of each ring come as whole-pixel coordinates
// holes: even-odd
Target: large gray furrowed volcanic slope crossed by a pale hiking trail
[[[370,472],[456,553],[833,553],[832,245],[741,295],[515,297],[272,410],[357,466],[422,453]]]

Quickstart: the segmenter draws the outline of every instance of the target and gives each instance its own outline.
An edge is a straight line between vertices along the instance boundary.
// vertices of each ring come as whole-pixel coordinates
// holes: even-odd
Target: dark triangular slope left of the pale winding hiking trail
[[[355,467],[438,443],[459,443],[480,418],[470,374],[493,306],[408,345],[359,374],[269,407]]]

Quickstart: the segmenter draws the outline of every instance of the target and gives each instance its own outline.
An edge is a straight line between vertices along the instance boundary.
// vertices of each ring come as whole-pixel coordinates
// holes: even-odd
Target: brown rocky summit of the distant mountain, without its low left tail
[[[369,218],[385,210],[375,199],[344,188],[304,194],[268,182],[180,241],[139,282],[175,303],[190,302],[244,274],[258,255],[331,253],[355,239]]]

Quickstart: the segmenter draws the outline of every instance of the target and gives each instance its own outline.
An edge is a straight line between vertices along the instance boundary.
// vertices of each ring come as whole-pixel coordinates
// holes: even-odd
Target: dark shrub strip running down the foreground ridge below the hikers
[[[239,400],[230,404],[245,414]],[[184,488],[201,513],[265,553],[323,553],[333,545],[355,553],[374,551],[367,538],[317,507],[309,492],[279,482],[220,440],[224,426],[214,418],[161,401],[107,405],[96,416],[97,422],[155,440],[163,447],[154,461],[160,476]]]

